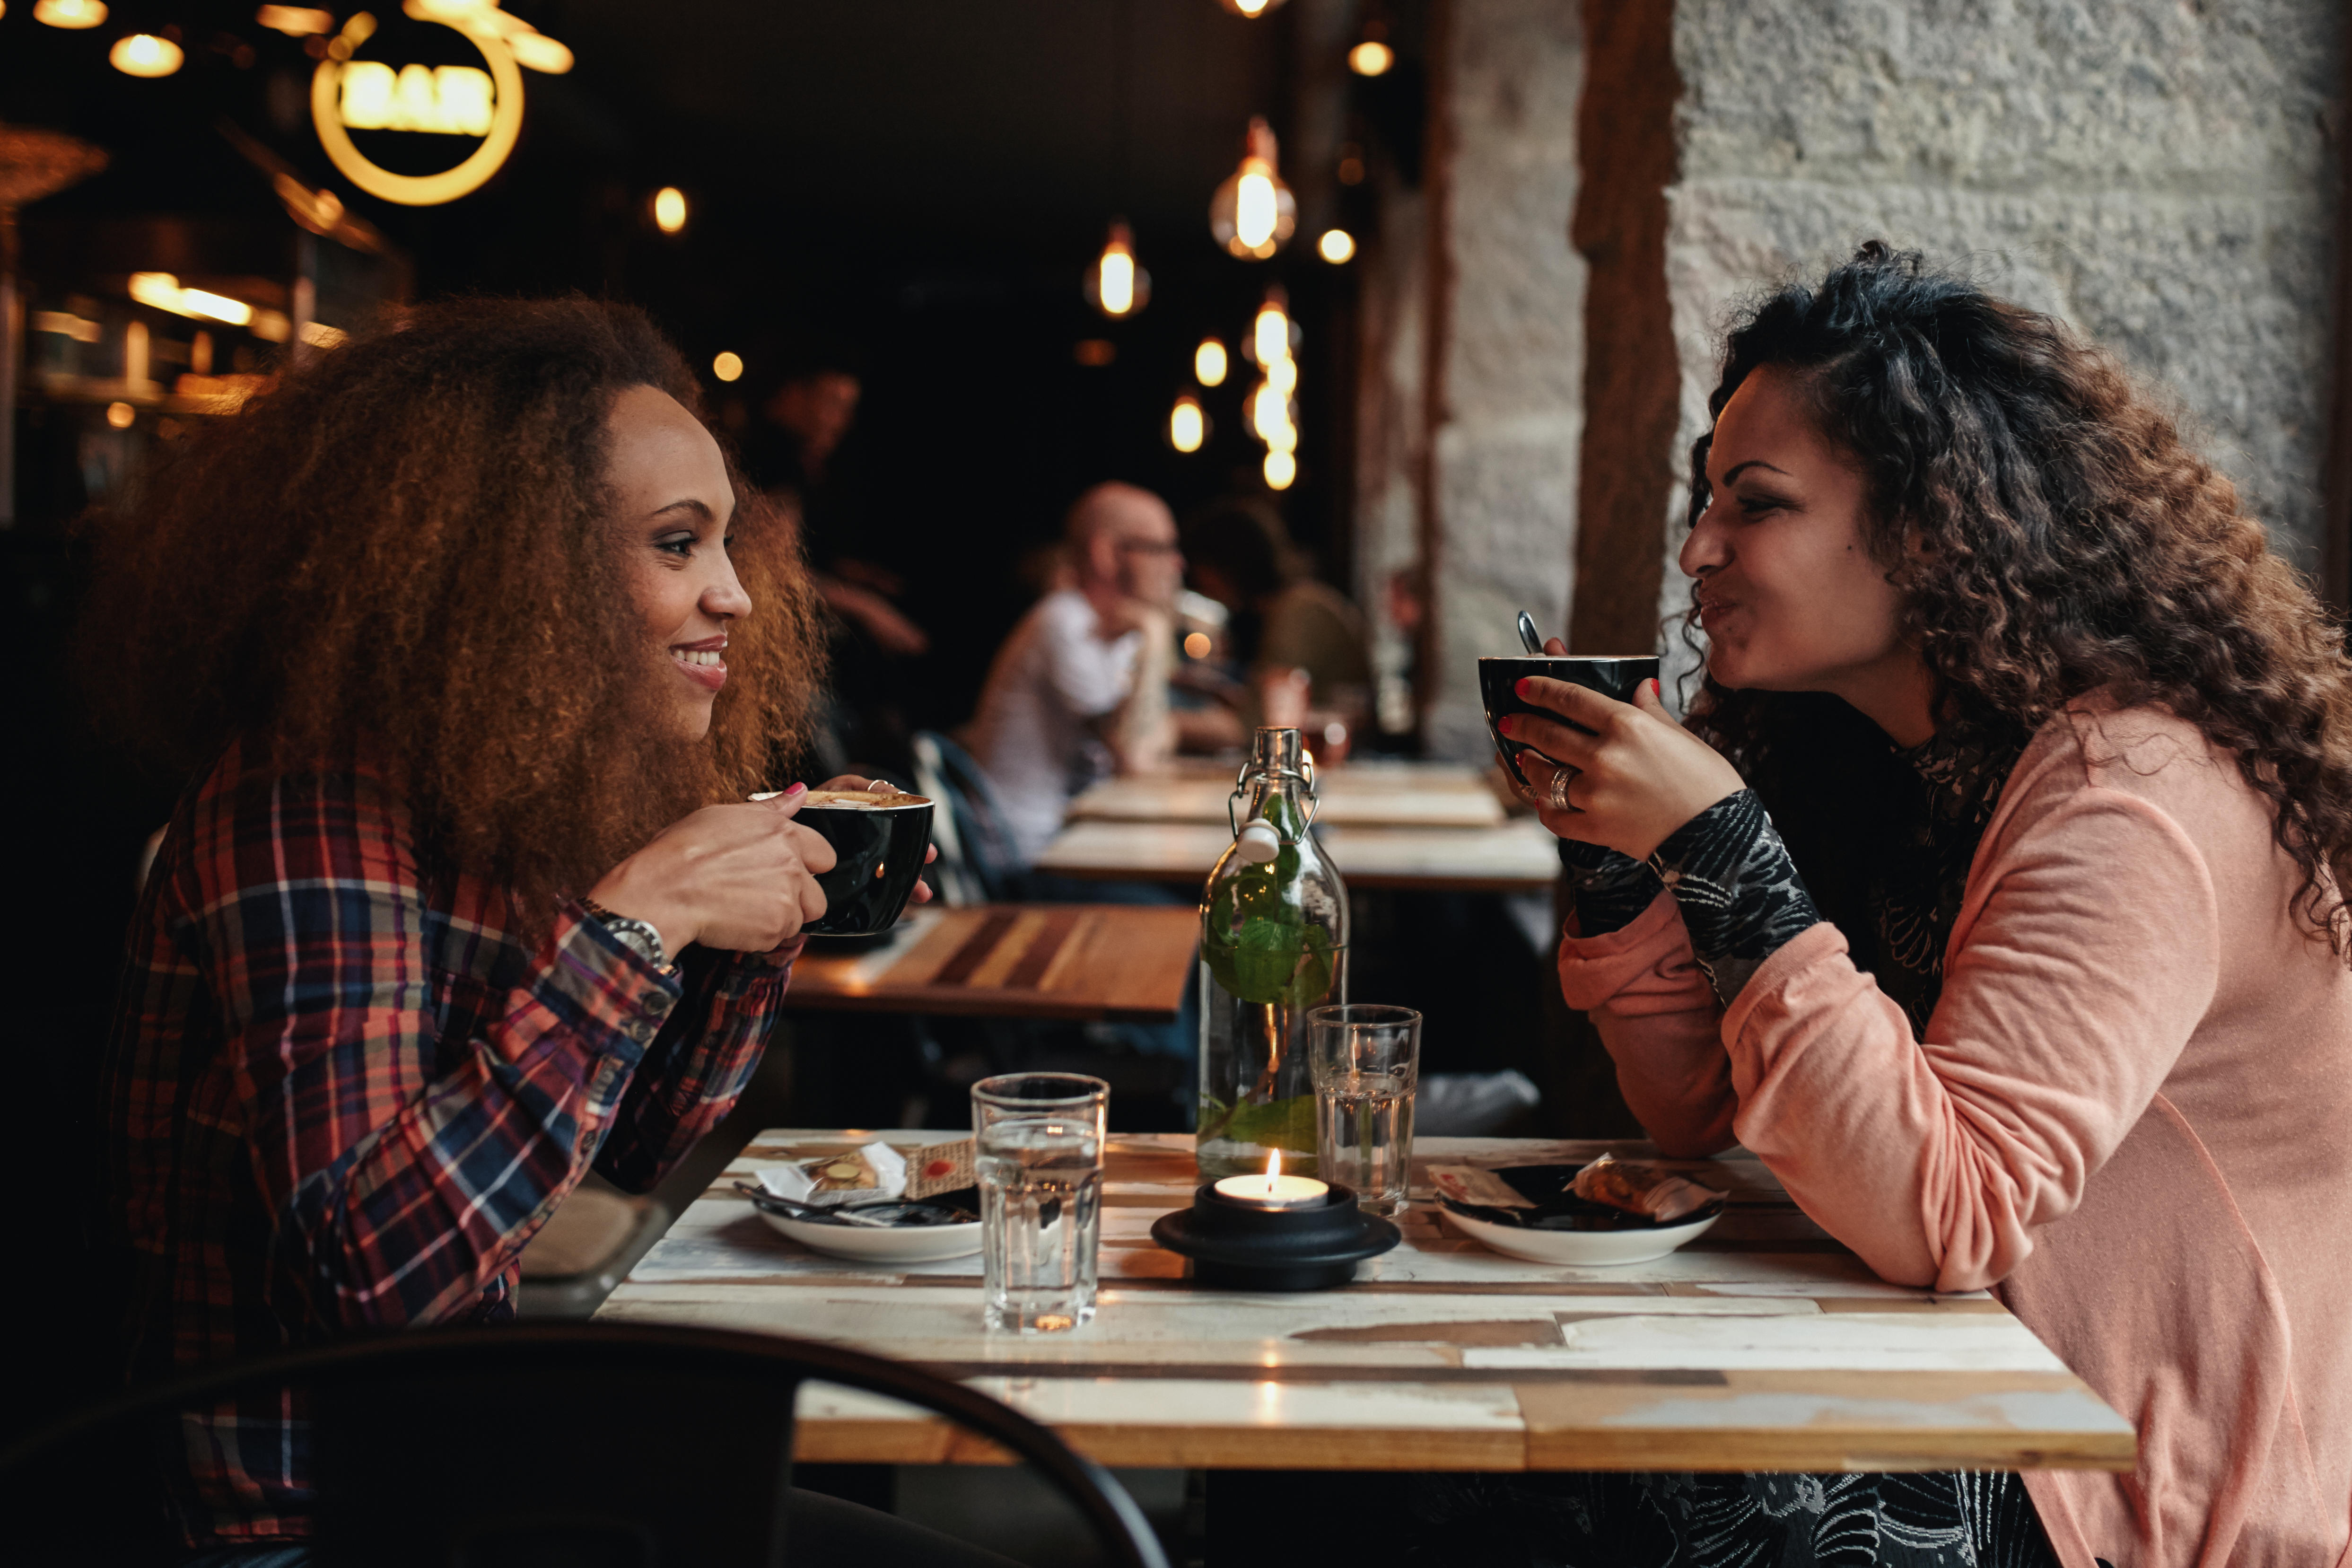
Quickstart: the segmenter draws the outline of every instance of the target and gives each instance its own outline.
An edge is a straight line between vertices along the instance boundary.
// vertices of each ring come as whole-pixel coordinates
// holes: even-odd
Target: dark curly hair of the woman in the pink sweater
[[[2093,691],[2171,710],[2272,802],[2277,842],[2303,870],[2293,910],[2343,952],[2343,628],[2164,409],[2060,322],[1882,242],[1818,287],[1752,306],[1729,334],[1710,414],[1766,364],[1867,480],[1867,545],[1900,592],[1900,635],[1933,672],[1938,710],[2013,741]],[[1691,447],[1693,524],[1710,442]],[[1693,592],[1682,618],[1693,651],[1696,625]],[[1691,708],[1693,731],[1776,816],[1797,818],[1792,844],[1851,842],[1889,769],[1907,771],[1837,698],[1708,677]]]

